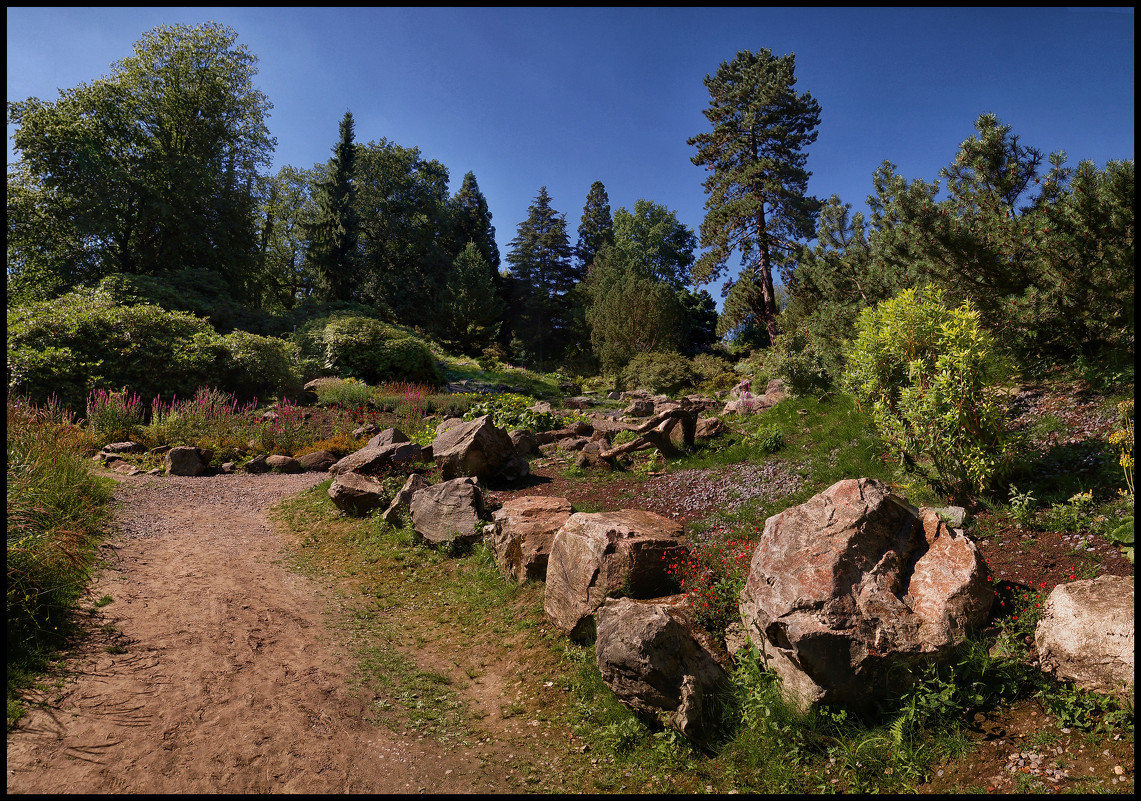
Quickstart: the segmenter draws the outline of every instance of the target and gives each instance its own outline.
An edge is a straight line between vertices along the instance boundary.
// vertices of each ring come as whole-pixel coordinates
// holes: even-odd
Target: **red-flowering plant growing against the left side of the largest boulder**
[[[688,555],[671,563],[667,572],[678,576],[697,621],[713,633],[738,620],[741,591],[756,550],[753,534],[738,534],[713,526],[702,534]]]

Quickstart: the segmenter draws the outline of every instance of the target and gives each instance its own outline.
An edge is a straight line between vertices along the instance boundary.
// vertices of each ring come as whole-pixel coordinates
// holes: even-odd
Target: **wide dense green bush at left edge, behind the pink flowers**
[[[159,306],[123,306],[98,290],[8,310],[8,389],[82,412],[95,389],[189,396],[217,382],[225,348],[210,325]]]

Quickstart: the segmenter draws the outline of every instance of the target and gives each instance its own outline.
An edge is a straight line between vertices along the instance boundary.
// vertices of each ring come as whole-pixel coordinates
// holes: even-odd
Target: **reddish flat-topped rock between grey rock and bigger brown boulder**
[[[487,545],[512,581],[543,581],[555,535],[573,512],[565,497],[525,495],[503,502],[492,515]]]

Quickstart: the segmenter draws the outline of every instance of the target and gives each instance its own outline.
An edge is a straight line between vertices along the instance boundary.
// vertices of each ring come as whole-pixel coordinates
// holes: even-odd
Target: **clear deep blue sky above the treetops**
[[[455,192],[474,171],[500,250],[541,186],[572,244],[586,193],[661,203],[695,232],[702,80],[739,50],[795,52],[822,107],[809,192],[865,208],[884,160],[933,180],[982,113],[1069,164],[1134,157],[1132,8],[11,8],[8,99],[110,74],[160,24],[215,21],[258,56],[274,168],[358,141],[419,147]],[[8,131],[9,137],[11,130]],[[14,159],[8,151],[9,163]],[[711,286],[714,297],[718,286]]]

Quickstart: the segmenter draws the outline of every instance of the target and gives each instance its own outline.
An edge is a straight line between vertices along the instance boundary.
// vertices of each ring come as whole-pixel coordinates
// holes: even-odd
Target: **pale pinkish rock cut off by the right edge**
[[[1034,632],[1042,669],[1082,689],[1127,697],[1134,685],[1133,576],[1059,584]]]

